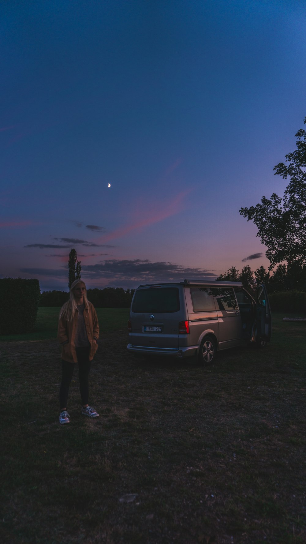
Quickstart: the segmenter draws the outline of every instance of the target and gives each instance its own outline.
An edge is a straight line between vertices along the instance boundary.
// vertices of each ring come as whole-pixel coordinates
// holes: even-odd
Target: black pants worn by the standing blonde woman
[[[88,404],[88,376],[91,367],[91,361],[89,360],[89,348],[76,348],[77,360],[79,366],[79,382],[80,382],[80,394],[82,404]],[[71,384],[73,370],[76,363],[69,363],[68,361],[61,360],[62,363],[62,378],[59,389],[59,403],[60,409],[67,407],[69,386]]]

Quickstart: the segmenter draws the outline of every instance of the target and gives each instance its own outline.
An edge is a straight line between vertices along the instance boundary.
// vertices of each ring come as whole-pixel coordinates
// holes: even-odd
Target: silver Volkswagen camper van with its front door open
[[[239,281],[184,280],[141,285],[128,323],[128,350],[142,355],[197,356],[212,363],[218,350],[246,341],[265,347],[271,340],[266,288],[255,299]]]

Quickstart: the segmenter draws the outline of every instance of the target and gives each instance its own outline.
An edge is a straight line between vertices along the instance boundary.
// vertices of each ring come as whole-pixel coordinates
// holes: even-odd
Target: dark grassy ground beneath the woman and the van
[[[94,421],[76,372],[59,425],[53,333],[0,344],[0,541],[305,544],[305,323],[276,314],[266,349],[198,367],[129,355],[124,312],[92,365]]]

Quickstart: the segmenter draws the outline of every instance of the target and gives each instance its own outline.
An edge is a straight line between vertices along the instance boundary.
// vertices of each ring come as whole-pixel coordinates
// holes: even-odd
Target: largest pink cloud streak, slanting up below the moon
[[[153,225],[154,223],[158,223],[159,221],[163,221],[164,219],[167,219],[168,217],[171,217],[172,215],[176,215],[177,213],[181,212],[184,209],[184,200],[185,196],[190,193],[191,189],[182,191],[182,193],[179,193],[172,201],[168,202],[167,205],[165,205],[163,208],[158,209],[150,209],[152,206],[152,202],[149,203],[147,206],[147,210],[145,209],[145,206],[142,206],[141,211],[138,212],[139,219],[138,221],[134,221],[133,223],[129,225],[124,225],[123,227],[117,228],[114,232],[110,232],[109,234],[106,234],[105,236],[102,236],[98,239],[99,243],[105,243],[109,240],[113,240],[114,238],[121,238],[122,236],[126,236],[131,231],[134,230],[141,230],[143,227],[147,227],[149,225]],[[156,208],[158,205],[155,206]],[[145,209],[145,212],[143,210]],[[151,211],[152,210],[152,211]],[[146,213],[147,212],[147,213]],[[146,213],[146,217],[143,218],[143,213]],[[135,214],[134,214],[135,217]],[[96,240],[97,242],[97,240]]]

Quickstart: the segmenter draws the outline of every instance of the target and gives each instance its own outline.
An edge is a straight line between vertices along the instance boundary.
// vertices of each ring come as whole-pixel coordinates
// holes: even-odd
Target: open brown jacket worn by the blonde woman
[[[97,351],[97,344],[93,337],[96,339],[99,338],[99,324],[98,324],[98,318],[97,313],[91,302],[88,302],[88,306],[86,305],[86,302],[84,301],[85,308],[84,308],[84,321],[85,321],[85,327],[87,331],[87,336],[91,345],[90,348],[90,354],[89,354],[89,360],[91,361],[93,359],[93,356],[95,355]],[[64,361],[68,361],[70,363],[77,363],[77,354],[76,354],[76,346],[74,345],[74,339],[76,337],[76,331],[78,326],[78,312],[73,316],[73,319],[71,321],[66,321],[63,317],[59,319],[58,324],[58,341],[62,345],[61,350],[61,358],[64,359]]]

